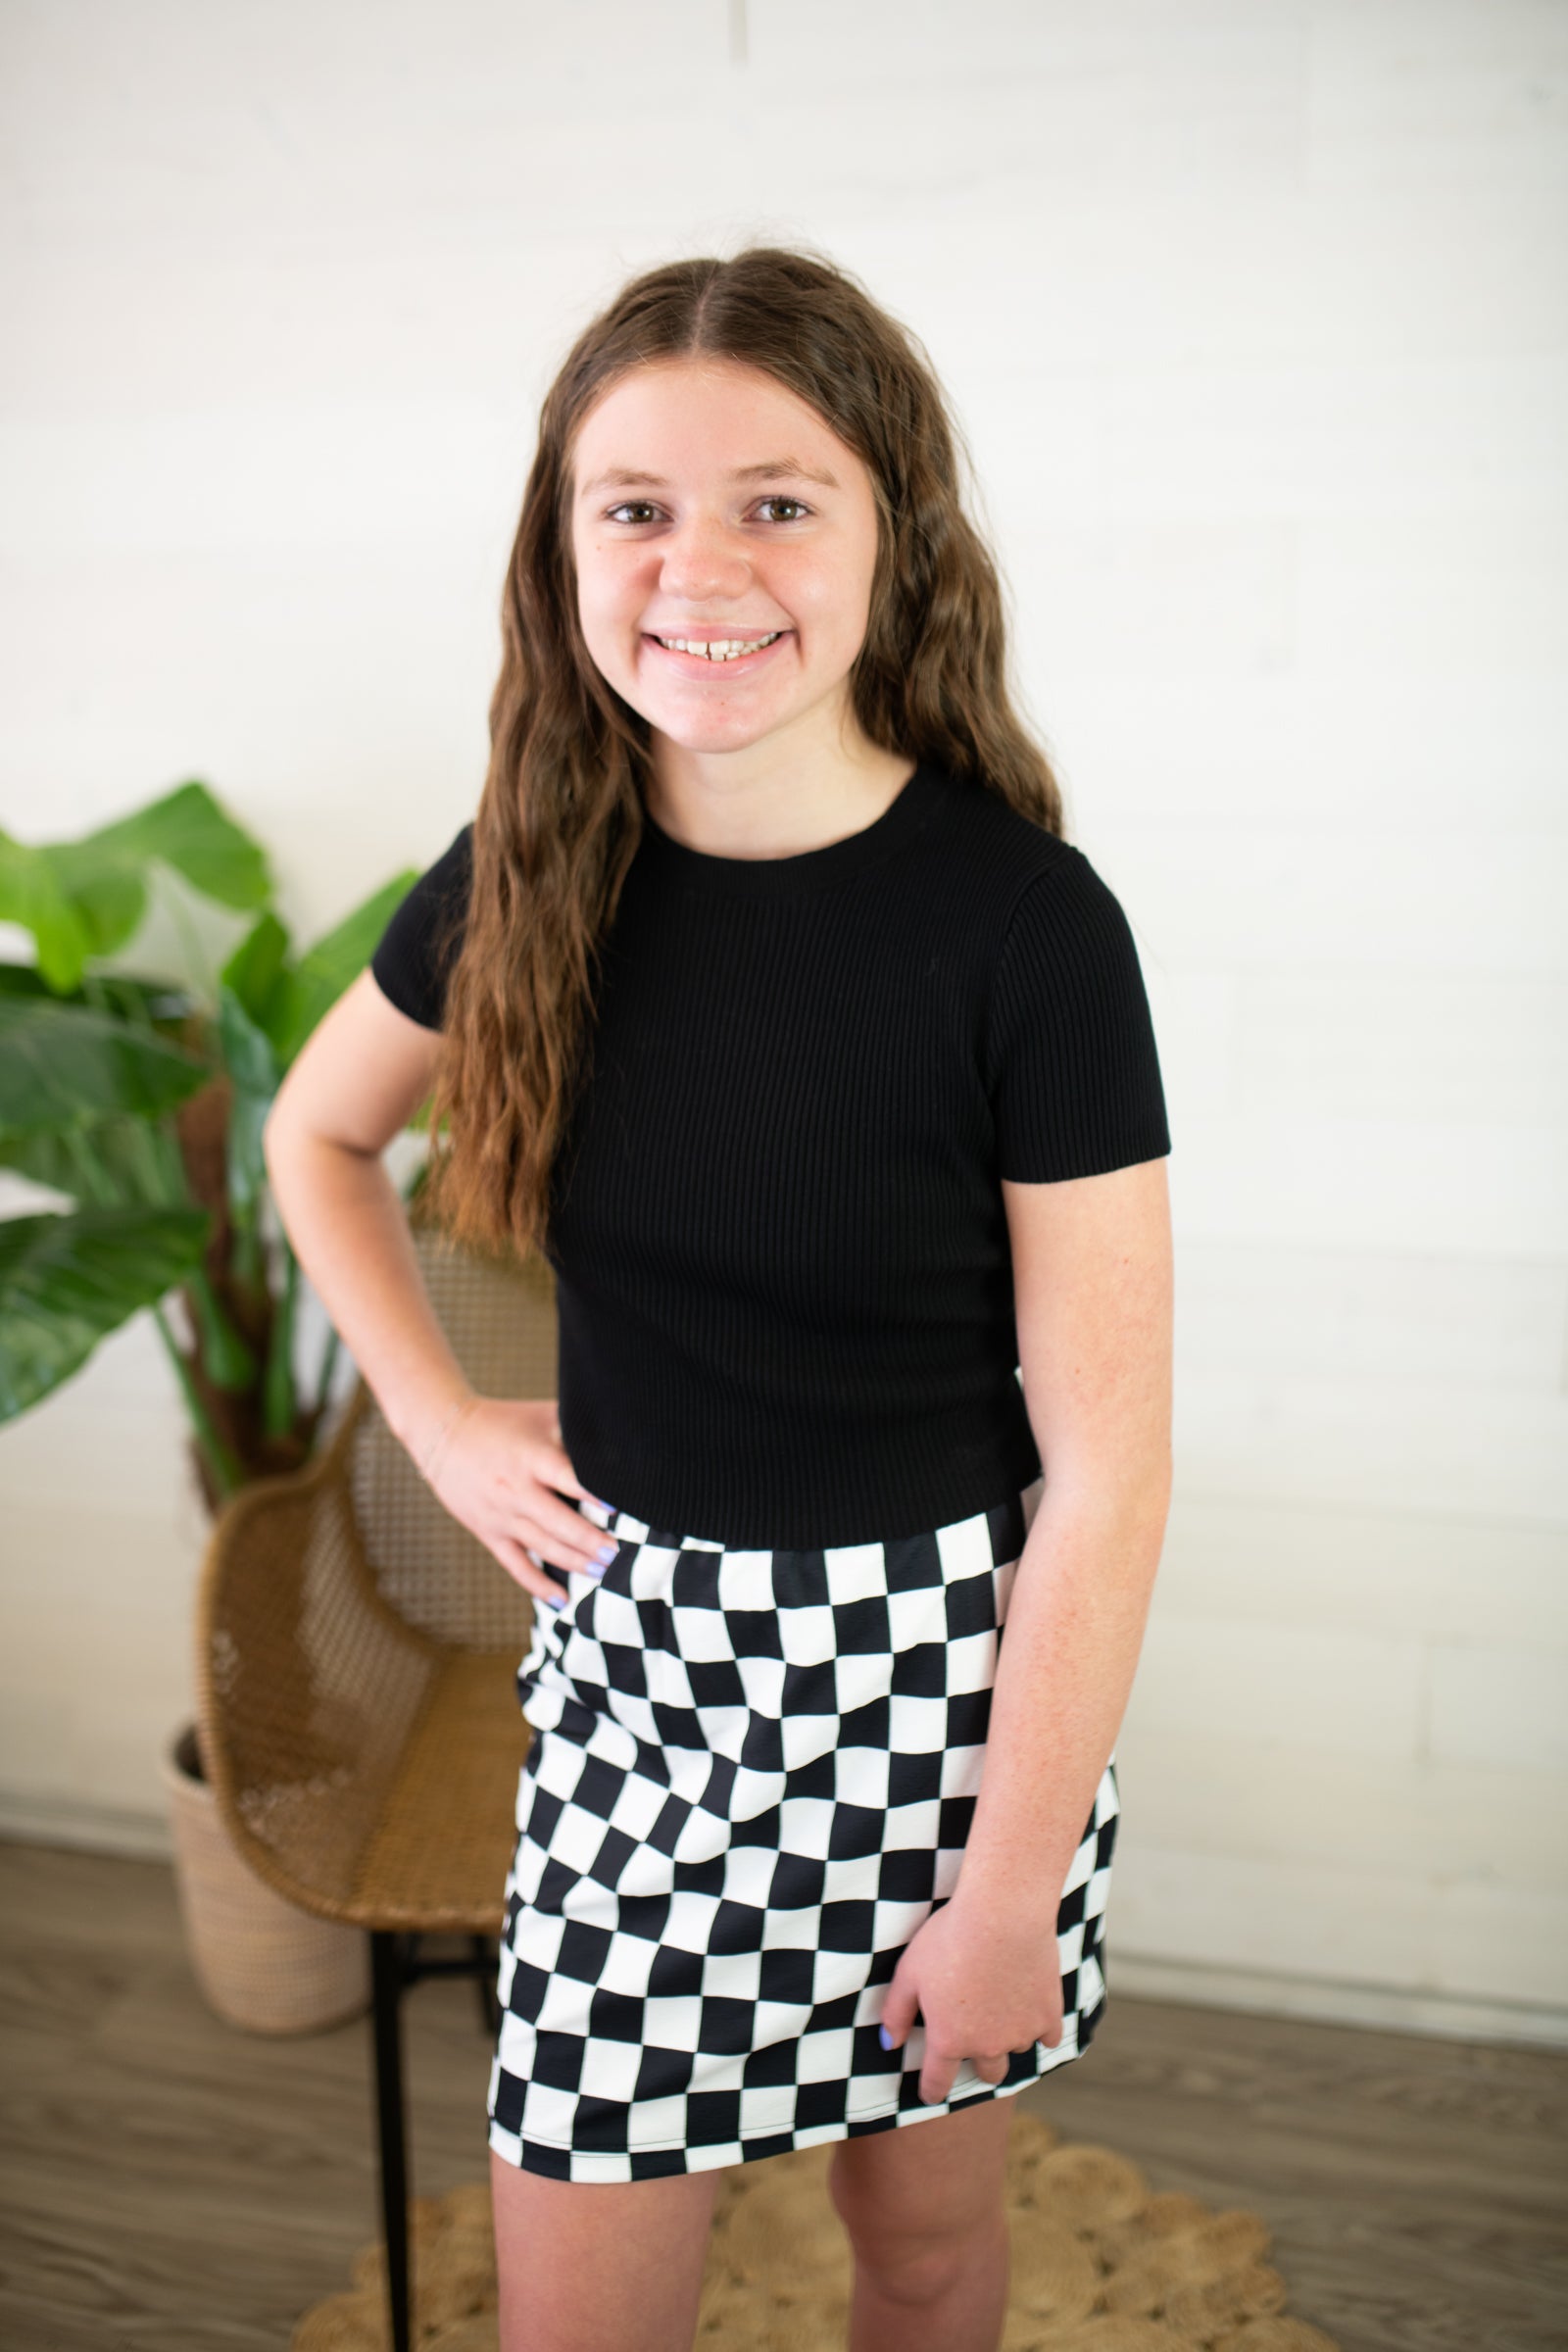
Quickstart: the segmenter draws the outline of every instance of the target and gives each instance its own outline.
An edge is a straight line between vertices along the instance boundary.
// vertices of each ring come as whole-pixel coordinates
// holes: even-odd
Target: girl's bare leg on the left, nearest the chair
[[[491,2147],[501,2352],[691,2352],[722,2178],[545,2180]]]

